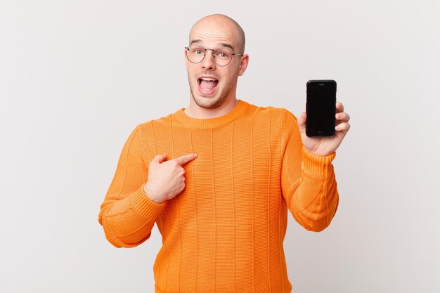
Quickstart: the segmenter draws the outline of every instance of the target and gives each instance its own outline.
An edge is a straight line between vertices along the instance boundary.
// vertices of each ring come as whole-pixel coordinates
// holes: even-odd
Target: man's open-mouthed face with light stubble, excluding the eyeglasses
[[[198,44],[203,48],[218,49],[229,47],[233,53],[242,53],[238,32],[232,23],[221,20],[201,20],[190,32],[190,45]],[[187,52],[185,52],[187,54]],[[186,60],[190,95],[202,108],[217,108],[228,98],[235,98],[237,79],[242,75],[242,56],[232,56],[226,66],[216,65],[212,50],[205,51],[200,63]]]

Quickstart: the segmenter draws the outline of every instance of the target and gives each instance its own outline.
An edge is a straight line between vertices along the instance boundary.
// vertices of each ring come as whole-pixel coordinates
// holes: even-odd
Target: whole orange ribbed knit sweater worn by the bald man
[[[186,187],[162,204],[143,190],[148,164],[190,152]],[[119,157],[99,223],[116,247],[162,248],[155,292],[290,292],[283,240],[287,209],[307,230],[326,228],[338,203],[327,157],[302,148],[295,116],[242,100],[228,114],[188,117],[183,108],[136,126]]]

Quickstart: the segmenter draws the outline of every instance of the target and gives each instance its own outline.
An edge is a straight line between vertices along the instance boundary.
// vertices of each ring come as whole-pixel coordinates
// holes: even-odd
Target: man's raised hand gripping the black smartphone
[[[333,137],[309,137],[306,136],[306,119],[307,115],[302,112],[299,115],[297,122],[299,127],[299,132],[301,133],[302,144],[306,150],[313,152],[316,155],[326,156],[330,155],[332,152],[339,147],[344,139],[344,136],[350,129],[349,119],[350,116],[344,112],[344,106],[341,102],[336,103],[336,125],[335,125],[335,136]]]

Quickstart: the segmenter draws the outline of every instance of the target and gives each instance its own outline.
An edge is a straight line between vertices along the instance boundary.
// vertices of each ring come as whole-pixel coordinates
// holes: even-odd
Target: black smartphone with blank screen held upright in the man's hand
[[[309,80],[306,88],[306,136],[334,136],[336,82],[330,79]]]

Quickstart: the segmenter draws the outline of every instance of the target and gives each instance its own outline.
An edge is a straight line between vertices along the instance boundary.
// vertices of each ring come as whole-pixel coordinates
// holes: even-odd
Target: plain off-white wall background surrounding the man
[[[153,292],[157,228],[116,249],[98,212],[131,130],[188,105],[183,46],[212,13],[246,33],[238,98],[299,115],[335,79],[351,115],[334,221],[289,214],[292,292],[440,292],[440,4],[372,0],[1,0],[0,291]]]

